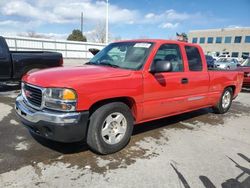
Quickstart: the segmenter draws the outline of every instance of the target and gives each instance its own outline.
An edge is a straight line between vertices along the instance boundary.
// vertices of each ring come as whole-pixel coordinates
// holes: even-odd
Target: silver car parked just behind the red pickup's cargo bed
[[[237,69],[240,64],[234,58],[221,58],[215,61],[214,65],[218,69]]]

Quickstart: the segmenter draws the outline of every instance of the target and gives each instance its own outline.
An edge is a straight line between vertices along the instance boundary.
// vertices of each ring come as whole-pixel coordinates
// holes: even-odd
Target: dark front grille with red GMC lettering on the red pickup
[[[31,85],[24,84],[23,92],[31,105],[40,108],[42,104],[42,90]]]

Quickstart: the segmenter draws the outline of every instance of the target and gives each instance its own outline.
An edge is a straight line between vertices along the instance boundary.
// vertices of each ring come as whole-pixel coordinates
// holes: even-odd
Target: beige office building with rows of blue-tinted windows
[[[250,53],[250,27],[193,30],[188,40],[199,44],[205,54],[229,54],[240,58]]]

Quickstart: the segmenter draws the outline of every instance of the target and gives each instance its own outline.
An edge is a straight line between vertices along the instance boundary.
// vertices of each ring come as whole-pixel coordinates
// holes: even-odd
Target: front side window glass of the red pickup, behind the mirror
[[[171,62],[172,72],[183,72],[184,70],[180,47],[177,44],[162,45],[154,58],[154,62],[156,61]]]

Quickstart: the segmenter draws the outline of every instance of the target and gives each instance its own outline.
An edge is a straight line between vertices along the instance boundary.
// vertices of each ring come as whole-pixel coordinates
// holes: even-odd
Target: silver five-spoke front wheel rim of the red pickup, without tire
[[[114,112],[110,114],[102,125],[102,138],[107,144],[119,143],[127,130],[127,120],[123,114]]]

